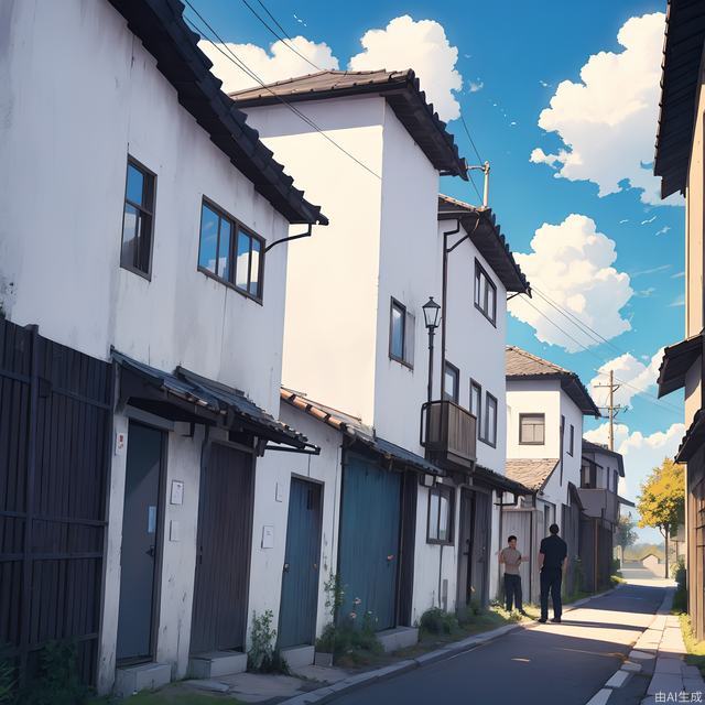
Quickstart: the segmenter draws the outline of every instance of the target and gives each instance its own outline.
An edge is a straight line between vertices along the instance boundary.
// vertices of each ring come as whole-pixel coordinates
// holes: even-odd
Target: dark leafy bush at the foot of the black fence
[[[78,673],[76,644],[52,641],[42,649],[37,677],[31,681],[19,702],[23,705],[84,705],[88,694],[89,688]]]

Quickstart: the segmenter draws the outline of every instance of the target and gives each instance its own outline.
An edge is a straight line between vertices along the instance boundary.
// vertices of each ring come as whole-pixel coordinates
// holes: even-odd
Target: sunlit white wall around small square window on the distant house
[[[545,414],[545,443],[519,444],[519,415]],[[582,436],[581,436],[582,437]],[[507,382],[507,457],[558,458],[561,456],[561,383],[556,380]]]

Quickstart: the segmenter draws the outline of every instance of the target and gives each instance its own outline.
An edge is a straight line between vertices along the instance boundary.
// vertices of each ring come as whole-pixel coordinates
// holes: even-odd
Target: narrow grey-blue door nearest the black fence
[[[120,551],[118,661],[153,654],[154,575],[160,543],[163,434],[130,423]]]

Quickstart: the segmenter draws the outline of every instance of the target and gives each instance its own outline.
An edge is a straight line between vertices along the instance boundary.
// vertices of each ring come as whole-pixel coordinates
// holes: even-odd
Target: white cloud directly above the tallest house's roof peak
[[[413,68],[438,117],[446,122],[460,117],[454,95],[463,89],[463,76],[455,68],[458,50],[451,46],[442,24],[415,22],[404,14],[383,30],[368,30],[360,43],[364,51],[350,58],[351,70]]]

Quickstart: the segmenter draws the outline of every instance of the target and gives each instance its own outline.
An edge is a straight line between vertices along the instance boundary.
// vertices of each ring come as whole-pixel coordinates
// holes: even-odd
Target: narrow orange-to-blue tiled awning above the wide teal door
[[[390,460],[403,468],[427,473],[445,477],[447,474],[433,463],[430,463],[422,455],[417,455],[412,451],[408,451],[402,446],[386,441],[377,435],[375,429],[366,425],[362,421],[350,414],[338,411],[330,406],[326,406],[319,402],[313,401],[291,389],[282,387],[282,401],[292,405],[294,409],[302,411],[316,421],[332,426],[336,431],[343,433],[348,440],[358,442],[373,453],[381,455],[384,459]]]

